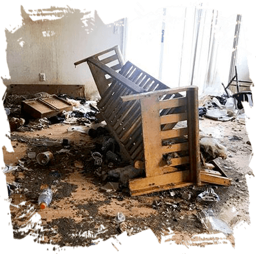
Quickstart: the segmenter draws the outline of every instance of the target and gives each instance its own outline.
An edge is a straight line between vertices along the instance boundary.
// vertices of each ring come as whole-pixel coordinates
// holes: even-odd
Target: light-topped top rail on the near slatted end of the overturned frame
[[[189,89],[197,88],[196,86],[190,85]],[[167,88],[158,91],[150,91],[150,92],[140,92],[135,95],[122,96],[121,100],[129,101],[129,100],[139,100],[144,97],[155,97],[155,96],[163,96],[169,93],[179,93],[187,91],[188,87],[179,87],[179,88]]]

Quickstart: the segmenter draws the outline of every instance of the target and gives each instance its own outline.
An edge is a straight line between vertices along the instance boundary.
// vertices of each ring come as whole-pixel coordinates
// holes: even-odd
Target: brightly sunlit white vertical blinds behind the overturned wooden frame
[[[196,6],[163,7],[130,22],[128,60],[171,88],[196,85],[200,95],[221,95],[230,74],[236,17]],[[249,70],[244,44],[239,37],[235,62]]]

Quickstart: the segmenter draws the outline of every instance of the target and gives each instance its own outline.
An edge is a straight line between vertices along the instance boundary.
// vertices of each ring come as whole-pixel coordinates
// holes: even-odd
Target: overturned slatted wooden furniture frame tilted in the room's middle
[[[101,100],[98,108],[131,163],[142,162],[145,177],[129,180],[131,196],[207,183],[231,184],[201,170],[197,87],[170,89],[131,62],[124,64],[119,46],[94,54],[87,62]],[[166,154],[179,154],[164,159]],[[177,156],[176,156],[177,157]]]

